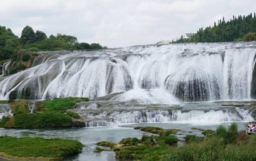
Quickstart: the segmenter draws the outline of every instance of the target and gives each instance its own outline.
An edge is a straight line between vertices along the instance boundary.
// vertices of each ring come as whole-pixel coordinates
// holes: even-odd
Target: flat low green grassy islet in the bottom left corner
[[[17,157],[65,157],[82,148],[83,144],[74,140],[0,136],[0,152]]]

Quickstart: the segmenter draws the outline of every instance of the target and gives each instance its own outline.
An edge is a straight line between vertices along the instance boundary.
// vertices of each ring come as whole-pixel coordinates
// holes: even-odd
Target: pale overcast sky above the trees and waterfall
[[[29,25],[47,36],[125,47],[176,39],[250,12],[256,0],[0,0],[0,25],[18,36]]]

